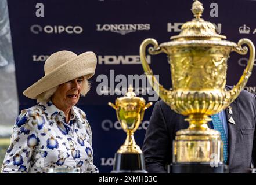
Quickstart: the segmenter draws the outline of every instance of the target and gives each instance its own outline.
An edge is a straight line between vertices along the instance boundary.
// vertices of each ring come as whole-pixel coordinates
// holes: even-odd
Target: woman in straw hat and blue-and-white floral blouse
[[[71,51],[53,53],[45,61],[45,76],[23,92],[38,104],[17,118],[2,173],[45,173],[53,168],[98,173],[91,127],[75,106],[90,89],[88,79],[96,63],[93,52],[77,56]]]

